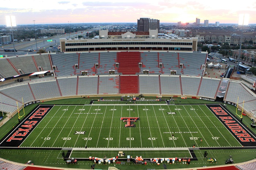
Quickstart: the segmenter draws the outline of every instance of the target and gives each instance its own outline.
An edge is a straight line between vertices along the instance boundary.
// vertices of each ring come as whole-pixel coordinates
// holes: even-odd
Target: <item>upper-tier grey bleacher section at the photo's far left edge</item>
[[[0,59],[0,73],[4,77],[12,77],[19,75],[16,72],[16,70],[12,67],[12,65],[8,62],[8,60],[5,58]]]

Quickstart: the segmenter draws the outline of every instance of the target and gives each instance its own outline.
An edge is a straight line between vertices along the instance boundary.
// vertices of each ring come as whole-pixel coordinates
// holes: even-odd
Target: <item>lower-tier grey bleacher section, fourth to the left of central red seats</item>
[[[36,100],[60,97],[56,80],[30,83]]]

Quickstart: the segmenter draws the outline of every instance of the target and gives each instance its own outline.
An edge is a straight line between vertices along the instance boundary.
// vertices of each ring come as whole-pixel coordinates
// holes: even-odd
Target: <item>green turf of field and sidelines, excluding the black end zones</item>
[[[162,99],[164,98],[169,99],[169,97]],[[120,100],[120,97],[104,99]],[[124,99],[126,100],[128,97]],[[157,98],[145,97],[145,99]],[[89,156],[103,158],[105,155],[109,158],[115,157],[118,151],[102,150],[116,147],[123,148],[125,154],[128,151],[128,154],[133,157],[142,155],[143,158],[181,158],[189,157],[188,150],[173,151],[161,148],[192,147],[193,144],[196,144],[197,147],[241,146],[205,105],[198,105],[218,104],[217,102],[174,98],[176,105],[148,105],[151,103],[144,103],[145,105],[128,103],[126,105],[125,101],[121,103],[122,105],[118,103],[111,105],[112,102],[106,103],[105,101],[100,103],[95,101],[93,105],[89,105],[91,100],[98,100],[98,98],[70,98],[40,103],[43,105],[55,104],[55,106],[20,147],[89,147],[90,150],[73,150],[71,157],[75,158],[88,158]],[[139,103],[136,102],[136,104]],[[25,118],[36,105],[25,107]],[[236,113],[236,107],[232,105],[227,105],[227,109],[232,114]],[[23,111],[20,112],[23,113]],[[167,112],[176,112],[176,114],[167,114]],[[133,123],[136,125],[135,127],[127,128],[125,127],[126,122],[121,121],[120,117],[140,117],[140,119]],[[25,120],[24,117],[23,120]],[[243,117],[243,124],[256,133],[256,129],[250,127],[251,123],[252,121],[247,116]],[[0,138],[3,138],[17,124],[18,115],[15,115],[0,128]],[[85,134],[75,134],[75,131],[86,132]],[[203,139],[203,142],[200,142],[200,138]],[[142,150],[132,150],[137,147]],[[93,148],[97,148],[97,150],[93,150]],[[147,148],[157,148],[157,151],[150,151]],[[204,151],[208,152],[208,158],[217,159],[217,163],[211,164],[206,158],[203,158]],[[167,169],[224,165],[229,155],[233,156],[235,163],[256,158],[256,149],[211,149],[194,150],[194,152],[198,161],[192,161],[190,165],[182,163],[170,165],[165,162]],[[18,153],[20,157],[17,157]],[[62,150],[49,149],[0,149],[1,158],[20,163],[32,159],[35,165],[42,166],[90,169],[93,165],[91,161],[79,161],[77,165],[66,165],[61,158],[61,153]],[[96,169],[108,169],[108,166],[113,165],[96,165],[95,167]],[[162,164],[157,166],[154,163],[134,165],[124,162],[124,164],[116,164],[116,167],[118,169],[164,169]]]

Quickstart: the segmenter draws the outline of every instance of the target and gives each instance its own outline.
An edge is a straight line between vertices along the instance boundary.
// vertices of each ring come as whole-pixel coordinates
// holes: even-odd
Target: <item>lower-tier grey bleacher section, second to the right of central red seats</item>
[[[160,76],[162,94],[181,95],[179,76]]]

